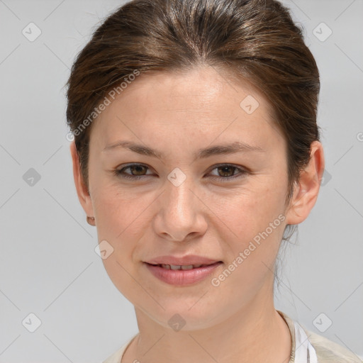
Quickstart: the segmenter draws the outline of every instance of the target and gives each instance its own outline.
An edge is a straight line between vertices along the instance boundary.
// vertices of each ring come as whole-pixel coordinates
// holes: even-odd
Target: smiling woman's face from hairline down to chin
[[[237,143],[250,150],[230,152]],[[141,75],[106,107],[92,125],[82,205],[118,290],[155,322],[179,314],[193,330],[272,301],[287,182],[286,142],[266,100],[205,67]],[[222,263],[187,272],[184,284],[184,271],[146,263],[189,255]]]

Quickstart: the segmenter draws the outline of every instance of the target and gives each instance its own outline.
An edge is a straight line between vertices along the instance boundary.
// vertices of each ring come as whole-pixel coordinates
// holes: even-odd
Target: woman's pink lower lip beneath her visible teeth
[[[147,269],[158,279],[171,285],[189,285],[199,282],[210,275],[222,262],[197,267],[196,269],[164,269],[163,267],[146,264]]]

